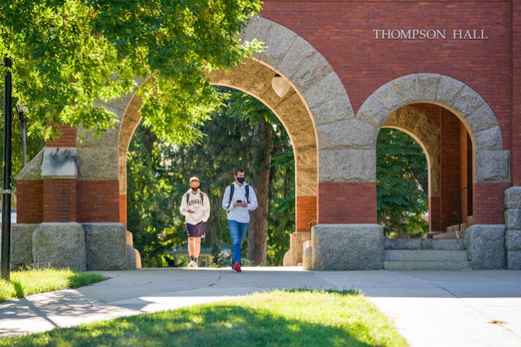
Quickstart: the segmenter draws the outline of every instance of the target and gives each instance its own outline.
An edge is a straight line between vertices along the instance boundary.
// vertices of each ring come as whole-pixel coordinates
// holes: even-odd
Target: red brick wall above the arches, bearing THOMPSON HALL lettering
[[[510,12],[510,1],[266,0],[260,15],[293,30],[326,58],[355,113],[373,91],[395,78],[448,75],[492,107],[509,148]],[[375,39],[373,30],[392,28],[441,28],[447,37],[453,29],[477,28],[488,39]]]

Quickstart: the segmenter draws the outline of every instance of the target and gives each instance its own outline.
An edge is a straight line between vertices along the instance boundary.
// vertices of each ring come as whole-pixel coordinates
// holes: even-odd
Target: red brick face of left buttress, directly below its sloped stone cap
[[[76,179],[44,179],[44,222],[76,222]]]

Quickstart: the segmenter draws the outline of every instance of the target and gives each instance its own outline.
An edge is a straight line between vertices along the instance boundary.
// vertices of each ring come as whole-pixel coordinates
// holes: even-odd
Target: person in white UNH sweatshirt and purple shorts
[[[179,211],[186,217],[186,232],[188,233],[188,267],[197,267],[197,257],[201,251],[201,238],[204,237],[204,223],[210,217],[210,199],[206,193],[199,190],[200,181],[191,177],[190,190],[183,195]]]

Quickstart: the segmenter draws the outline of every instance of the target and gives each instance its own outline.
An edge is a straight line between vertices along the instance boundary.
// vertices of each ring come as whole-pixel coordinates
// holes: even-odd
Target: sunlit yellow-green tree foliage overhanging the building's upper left
[[[259,48],[236,38],[258,10],[259,0],[0,0],[0,57],[13,60],[30,134],[52,138],[53,123],[109,129],[115,115],[93,105],[139,78],[143,124],[169,143],[193,142],[220,103],[205,73]]]

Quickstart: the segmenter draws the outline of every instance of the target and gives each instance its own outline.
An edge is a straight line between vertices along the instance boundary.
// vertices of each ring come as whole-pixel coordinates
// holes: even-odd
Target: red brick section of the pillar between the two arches
[[[376,183],[318,184],[318,224],[376,224]]]

